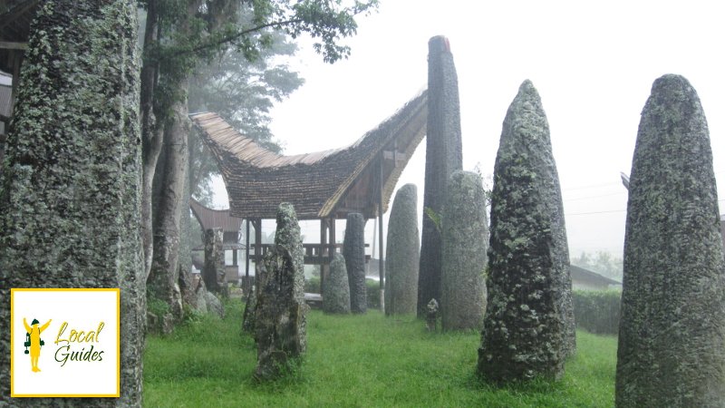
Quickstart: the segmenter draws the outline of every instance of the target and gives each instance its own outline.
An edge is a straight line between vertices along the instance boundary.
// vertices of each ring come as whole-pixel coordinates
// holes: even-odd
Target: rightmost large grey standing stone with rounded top
[[[624,240],[618,407],[725,406],[725,287],[710,134],[679,75],[652,85]]]

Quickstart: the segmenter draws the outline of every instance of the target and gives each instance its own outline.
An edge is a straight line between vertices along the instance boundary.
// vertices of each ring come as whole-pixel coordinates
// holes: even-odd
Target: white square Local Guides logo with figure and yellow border
[[[116,288],[11,289],[11,396],[118,397],[120,296]]]

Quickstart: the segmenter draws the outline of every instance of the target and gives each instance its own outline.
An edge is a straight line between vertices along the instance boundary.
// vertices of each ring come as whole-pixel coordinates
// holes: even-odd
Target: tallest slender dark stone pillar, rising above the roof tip
[[[460,140],[459,80],[448,38],[428,42],[428,132],[426,135],[423,208],[440,216],[448,179],[463,167]],[[418,277],[418,316],[425,316],[430,299],[440,301],[440,230],[423,214]]]

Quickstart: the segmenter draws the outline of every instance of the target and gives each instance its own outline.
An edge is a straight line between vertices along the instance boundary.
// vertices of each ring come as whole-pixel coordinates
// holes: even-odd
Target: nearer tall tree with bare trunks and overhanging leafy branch
[[[229,47],[255,63],[275,43],[275,31],[292,38],[310,34],[315,50],[323,55],[324,61],[333,63],[350,53],[341,40],[355,33],[354,16],[371,12],[377,4],[377,0],[140,2],[147,12],[140,75],[145,269],[149,281],[155,282],[149,287],[168,298],[172,310],[181,310],[175,290],[179,271],[188,273],[190,268],[178,261],[179,248],[186,247],[180,242],[185,239],[179,233],[180,225],[189,217],[189,192],[182,190],[189,190],[185,187],[189,174],[198,180],[205,174],[203,169],[193,171],[194,160],[202,158],[190,156],[188,134],[189,91],[200,67],[226,53]],[[282,72],[276,73],[276,77],[270,74],[266,81],[280,83],[285,77],[289,79]],[[274,98],[276,89],[279,87],[265,91]],[[154,183],[158,186],[156,190]],[[180,318],[179,313],[175,317]]]

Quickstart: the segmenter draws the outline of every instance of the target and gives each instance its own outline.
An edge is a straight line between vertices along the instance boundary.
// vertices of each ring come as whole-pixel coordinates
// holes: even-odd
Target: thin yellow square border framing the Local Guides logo
[[[14,393],[14,298],[15,292],[116,292],[116,393]],[[118,287],[14,287],[10,289],[10,397],[12,398],[51,398],[51,397],[85,397],[85,398],[118,398],[121,396],[121,289]]]

